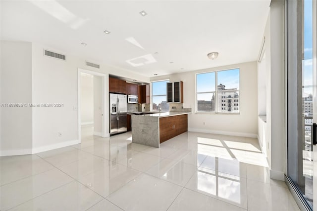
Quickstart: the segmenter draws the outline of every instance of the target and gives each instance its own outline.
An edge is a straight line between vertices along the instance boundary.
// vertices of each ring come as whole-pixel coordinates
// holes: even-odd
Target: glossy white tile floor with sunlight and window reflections
[[[1,157],[0,210],[299,210],[256,139],[187,132],[153,148],[82,133],[81,144]]]

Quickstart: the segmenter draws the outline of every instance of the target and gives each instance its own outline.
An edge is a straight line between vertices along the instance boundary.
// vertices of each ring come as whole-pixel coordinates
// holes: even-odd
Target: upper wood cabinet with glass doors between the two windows
[[[167,86],[167,102],[183,103],[183,81],[168,82]]]

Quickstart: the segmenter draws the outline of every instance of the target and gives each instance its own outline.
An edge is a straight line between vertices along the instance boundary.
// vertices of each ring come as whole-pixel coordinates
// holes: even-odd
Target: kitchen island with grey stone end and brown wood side
[[[187,131],[187,114],[191,112],[161,112],[131,115],[132,142],[158,147]]]

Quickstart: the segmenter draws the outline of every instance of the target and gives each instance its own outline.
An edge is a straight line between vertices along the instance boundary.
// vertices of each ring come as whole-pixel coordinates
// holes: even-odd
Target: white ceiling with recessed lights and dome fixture
[[[0,35],[152,77],[256,61],[269,3],[1,0]],[[210,52],[218,58],[208,59]]]

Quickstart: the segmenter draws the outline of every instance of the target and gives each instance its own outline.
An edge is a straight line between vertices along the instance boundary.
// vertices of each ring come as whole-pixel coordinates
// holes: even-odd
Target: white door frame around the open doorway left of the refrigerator
[[[109,133],[107,130],[107,116],[106,115],[106,111],[107,111],[107,103],[106,103],[106,87],[107,87],[107,81],[108,81],[108,75],[105,73],[101,73],[101,72],[96,72],[96,71],[91,71],[91,70],[85,70],[82,68],[78,68],[78,141],[81,143],[81,79],[80,79],[80,74],[81,73],[87,73],[87,74],[91,74],[94,76],[100,76],[102,78],[102,85],[101,85],[101,94],[102,94],[102,137],[106,138],[109,137]]]

